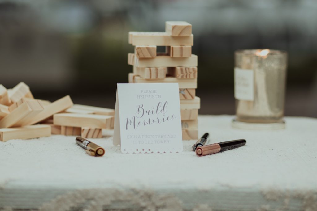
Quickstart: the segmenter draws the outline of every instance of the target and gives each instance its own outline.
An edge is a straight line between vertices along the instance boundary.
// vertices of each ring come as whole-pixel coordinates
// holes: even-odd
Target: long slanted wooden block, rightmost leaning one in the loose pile
[[[73,101],[72,99],[70,99],[69,95],[62,97],[61,99],[44,106],[44,110],[30,119],[28,125],[33,125],[40,121],[43,121],[56,113],[70,108],[72,105]]]

